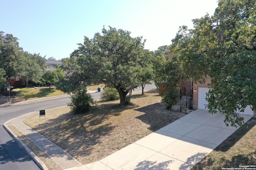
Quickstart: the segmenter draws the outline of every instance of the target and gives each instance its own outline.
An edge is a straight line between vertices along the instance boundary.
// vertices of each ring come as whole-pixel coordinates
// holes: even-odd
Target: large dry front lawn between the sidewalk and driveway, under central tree
[[[98,102],[87,114],[73,115],[68,107],[46,111],[46,119],[38,115],[24,123],[66,150],[82,164],[98,161],[153,131],[184,116],[166,110],[156,90],[132,95],[132,105],[119,101]]]

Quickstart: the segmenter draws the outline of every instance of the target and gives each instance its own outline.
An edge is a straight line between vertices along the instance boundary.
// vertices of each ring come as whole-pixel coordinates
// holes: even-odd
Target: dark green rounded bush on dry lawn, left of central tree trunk
[[[71,107],[72,113],[85,113],[92,109],[92,106],[96,104],[91,94],[87,93],[86,87],[80,87],[78,90],[72,93],[71,103],[68,106]]]

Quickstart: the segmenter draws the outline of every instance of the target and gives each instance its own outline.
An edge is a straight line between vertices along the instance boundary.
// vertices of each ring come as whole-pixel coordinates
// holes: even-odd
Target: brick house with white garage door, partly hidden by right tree
[[[171,51],[168,51],[169,53],[169,59],[172,59],[173,53]],[[188,108],[192,108],[193,110],[196,109],[207,109],[205,108],[206,104],[208,102],[206,101],[206,93],[209,91],[208,84],[211,84],[211,78],[207,77],[206,82],[201,84],[199,82],[193,82],[193,79],[191,80],[184,80],[180,85],[180,96],[182,98],[182,101],[188,101]],[[191,97],[191,100],[190,100]],[[181,106],[181,102],[178,104]],[[254,115],[256,117],[256,112],[252,111],[250,107],[246,107],[244,113],[240,112],[240,114],[245,115]]]

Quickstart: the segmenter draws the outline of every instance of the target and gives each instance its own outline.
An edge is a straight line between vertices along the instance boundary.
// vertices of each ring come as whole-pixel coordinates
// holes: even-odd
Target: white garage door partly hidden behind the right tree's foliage
[[[206,104],[208,104],[208,102],[206,101],[206,93],[209,91],[209,88],[198,88],[198,109],[208,109],[205,108]],[[237,111],[238,112],[238,111]],[[240,112],[240,114],[242,115],[252,115],[253,116],[253,111],[250,108],[250,106],[247,106],[244,109],[244,112]]]

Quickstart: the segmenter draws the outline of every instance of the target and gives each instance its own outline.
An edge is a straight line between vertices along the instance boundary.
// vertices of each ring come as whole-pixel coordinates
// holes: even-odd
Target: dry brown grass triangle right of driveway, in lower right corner
[[[254,165],[252,168],[256,168],[255,142],[256,118],[252,118],[198,162],[192,170],[241,168],[241,165]]]

